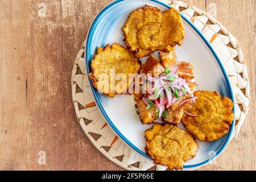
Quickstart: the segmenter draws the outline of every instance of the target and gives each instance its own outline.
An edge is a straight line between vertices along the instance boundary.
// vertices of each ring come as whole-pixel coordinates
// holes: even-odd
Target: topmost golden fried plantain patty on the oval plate
[[[125,44],[135,57],[144,57],[155,51],[169,52],[177,44],[181,46],[185,36],[179,12],[145,5],[130,13],[122,28]]]

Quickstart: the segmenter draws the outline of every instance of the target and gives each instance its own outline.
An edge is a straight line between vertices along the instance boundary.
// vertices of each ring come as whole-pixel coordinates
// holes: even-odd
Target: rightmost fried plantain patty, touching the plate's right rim
[[[220,139],[229,132],[234,119],[232,100],[221,97],[218,92],[196,91],[194,95],[196,104],[185,111],[197,117],[183,114],[181,122],[199,140],[210,142]]]

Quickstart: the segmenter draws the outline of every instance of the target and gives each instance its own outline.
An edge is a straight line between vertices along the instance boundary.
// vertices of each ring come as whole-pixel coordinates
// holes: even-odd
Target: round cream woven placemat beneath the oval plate
[[[250,100],[247,67],[237,39],[220,22],[204,11],[181,1],[164,2],[179,10],[195,24],[212,44],[228,73],[236,101],[236,126],[230,138],[232,140],[238,135],[245,121]],[[166,170],[166,166],[155,165],[131,150],[107,125],[90,90],[84,50],[85,42],[73,65],[71,84],[76,116],[86,136],[106,158],[127,170]]]

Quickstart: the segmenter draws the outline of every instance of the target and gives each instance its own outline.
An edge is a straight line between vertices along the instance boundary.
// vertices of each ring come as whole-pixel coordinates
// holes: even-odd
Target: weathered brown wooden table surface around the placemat
[[[73,61],[94,16],[109,2],[0,1],[0,169],[122,170],[86,138],[71,98]],[[240,134],[201,169],[255,170],[255,1],[185,2],[216,16],[238,39],[251,84]]]

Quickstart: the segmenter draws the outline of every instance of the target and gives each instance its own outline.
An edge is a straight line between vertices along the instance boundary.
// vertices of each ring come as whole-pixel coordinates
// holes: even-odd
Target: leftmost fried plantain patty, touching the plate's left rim
[[[89,78],[94,88],[113,98],[115,94],[127,93],[131,84],[129,73],[138,73],[141,69],[141,61],[135,58],[127,48],[114,43],[112,46],[106,45],[105,48],[98,47],[91,67],[92,72],[89,73]],[[111,76],[113,71],[115,75]],[[119,75],[119,80],[115,80],[118,73],[122,75]]]

